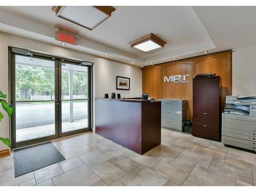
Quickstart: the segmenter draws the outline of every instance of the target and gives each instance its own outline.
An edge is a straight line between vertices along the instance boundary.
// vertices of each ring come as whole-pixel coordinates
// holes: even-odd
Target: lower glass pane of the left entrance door
[[[55,101],[16,103],[16,142],[55,134]]]

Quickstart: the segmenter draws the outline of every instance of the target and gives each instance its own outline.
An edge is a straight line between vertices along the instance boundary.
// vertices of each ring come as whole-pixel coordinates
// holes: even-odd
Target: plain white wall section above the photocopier
[[[233,50],[232,95],[256,95],[256,45]]]

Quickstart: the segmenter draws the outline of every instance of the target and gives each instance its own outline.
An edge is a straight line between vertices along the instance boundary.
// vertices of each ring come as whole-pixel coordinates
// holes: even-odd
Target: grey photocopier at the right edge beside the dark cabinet
[[[256,96],[226,96],[222,142],[256,152]]]

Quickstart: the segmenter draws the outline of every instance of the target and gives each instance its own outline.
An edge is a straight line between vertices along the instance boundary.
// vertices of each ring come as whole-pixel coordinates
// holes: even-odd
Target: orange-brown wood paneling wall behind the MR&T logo
[[[195,74],[216,72],[221,77],[222,111],[225,98],[232,95],[231,51],[162,63],[143,68],[142,90],[154,99],[186,99],[188,100],[187,118],[192,119],[193,112],[193,78]],[[164,76],[185,75],[188,83],[174,84],[164,82]]]

